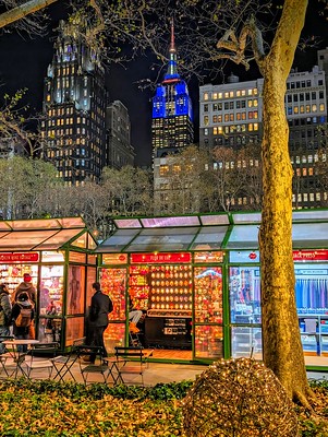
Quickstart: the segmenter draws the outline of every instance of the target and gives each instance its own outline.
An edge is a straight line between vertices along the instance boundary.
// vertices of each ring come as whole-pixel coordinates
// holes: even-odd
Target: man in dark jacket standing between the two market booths
[[[92,345],[101,346],[102,355],[107,356],[107,351],[104,343],[104,332],[108,326],[108,315],[113,309],[112,302],[109,296],[101,292],[99,282],[93,283],[93,290],[95,291],[95,294],[92,297],[92,305],[89,309],[89,338]],[[90,357],[90,361],[94,362],[95,358],[96,357]]]

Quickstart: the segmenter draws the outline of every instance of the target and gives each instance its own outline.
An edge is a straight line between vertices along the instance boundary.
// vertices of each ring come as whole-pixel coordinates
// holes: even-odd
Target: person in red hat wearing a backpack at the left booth
[[[27,293],[23,292],[17,296],[17,300],[12,308],[12,319],[15,339],[28,340],[29,327],[34,320],[34,305],[29,300]],[[17,351],[26,352],[27,345],[19,345]]]

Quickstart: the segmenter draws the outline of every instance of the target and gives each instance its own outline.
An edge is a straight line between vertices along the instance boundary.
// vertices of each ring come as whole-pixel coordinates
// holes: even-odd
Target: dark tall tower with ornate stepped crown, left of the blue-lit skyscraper
[[[41,122],[41,156],[75,186],[99,180],[107,164],[105,70],[100,49],[90,47],[85,33],[85,23],[60,22]]]

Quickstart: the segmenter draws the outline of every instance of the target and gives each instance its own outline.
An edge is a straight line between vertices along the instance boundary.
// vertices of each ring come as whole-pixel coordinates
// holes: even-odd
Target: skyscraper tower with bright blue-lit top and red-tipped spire
[[[153,98],[153,156],[178,152],[194,141],[193,109],[186,83],[178,73],[174,26],[171,24],[170,60],[167,74]]]

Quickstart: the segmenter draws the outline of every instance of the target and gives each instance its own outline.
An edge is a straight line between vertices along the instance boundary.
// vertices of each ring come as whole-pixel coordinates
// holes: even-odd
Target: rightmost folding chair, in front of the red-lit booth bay
[[[123,375],[139,375],[142,385],[144,385],[144,371],[148,367],[148,358],[153,356],[153,350],[144,350],[143,347],[114,347],[114,359],[117,363],[118,378],[117,381],[126,383]]]

